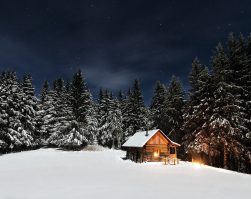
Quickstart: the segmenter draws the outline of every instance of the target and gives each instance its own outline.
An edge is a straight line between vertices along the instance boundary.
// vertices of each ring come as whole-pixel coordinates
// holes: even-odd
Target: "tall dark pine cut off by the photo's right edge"
[[[231,93],[238,100],[240,118],[238,121],[239,129],[243,135],[242,143],[245,146],[249,146],[250,139],[250,59],[248,54],[248,42],[240,34],[239,38],[236,38],[233,33],[230,33],[227,43],[228,57],[230,64],[231,76],[229,76],[229,82],[232,85]],[[249,152],[248,152],[249,151]],[[244,152],[250,154],[250,149]],[[249,155],[245,155],[246,161],[251,166],[251,158]]]

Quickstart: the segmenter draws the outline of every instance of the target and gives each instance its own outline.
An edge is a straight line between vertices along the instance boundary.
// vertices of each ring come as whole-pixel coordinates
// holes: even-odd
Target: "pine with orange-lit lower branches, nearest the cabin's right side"
[[[207,68],[197,76],[196,104],[189,103],[190,113],[184,117],[184,149],[193,156],[199,155],[205,163],[210,164],[208,154],[210,139],[208,131],[213,104],[212,78]],[[191,100],[191,99],[190,99]],[[192,105],[191,105],[192,104]]]

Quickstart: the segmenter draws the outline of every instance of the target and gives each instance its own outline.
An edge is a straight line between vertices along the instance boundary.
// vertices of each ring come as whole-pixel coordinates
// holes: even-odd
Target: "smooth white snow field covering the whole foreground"
[[[136,164],[115,150],[40,149],[0,156],[0,199],[250,198],[251,175],[207,166]]]

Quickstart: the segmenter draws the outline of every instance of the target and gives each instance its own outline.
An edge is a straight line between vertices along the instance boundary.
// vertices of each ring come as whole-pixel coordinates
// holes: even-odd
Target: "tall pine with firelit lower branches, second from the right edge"
[[[214,103],[210,117],[210,139],[214,143],[212,151],[223,155],[223,166],[239,170],[242,162],[242,130],[244,120],[242,118],[241,101],[239,98],[239,86],[232,79],[231,59],[226,55],[222,45],[218,45],[212,59]]]

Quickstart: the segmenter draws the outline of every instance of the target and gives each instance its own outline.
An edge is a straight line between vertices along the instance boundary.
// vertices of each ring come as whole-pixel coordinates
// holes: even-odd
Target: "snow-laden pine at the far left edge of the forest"
[[[33,112],[25,104],[23,92],[14,72],[1,77],[1,147],[6,150],[28,149],[34,146],[32,128],[26,125],[27,112]],[[29,111],[28,111],[29,110]]]

